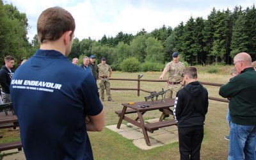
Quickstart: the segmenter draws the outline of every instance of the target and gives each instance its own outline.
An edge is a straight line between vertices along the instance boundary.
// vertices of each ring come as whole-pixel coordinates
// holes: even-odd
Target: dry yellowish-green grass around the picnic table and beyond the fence
[[[136,79],[138,74],[143,74],[141,79],[158,79],[161,72],[143,72],[143,73],[124,73],[113,72],[113,78],[131,78]],[[167,76],[167,75],[166,75]],[[165,76],[165,78],[166,78]],[[208,74],[200,70],[198,81],[212,83],[227,83],[229,79],[228,72],[221,74]],[[111,81],[113,88],[136,88],[136,81]],[[141,88],[150,91],[160,91],[166,86],[166,83],[141,82]],[[219,97],[219,87],[205,86],[211,97]],[[117,124],[118,116],[116,110],[122,109],[124,102],[143,101],[148,93],[137,91],[112,90],[111,94],[115,102],[104,101],[104,110],[106,113],[106,125]],[[106,96],[106,95],[105,95]],[[228,134],[229,128],[225,120],[228,104],[209,100],[209,109],[205,119],[205,134],[201,148],[201,159],[227,159],[228,141],[224,139]],[[151,111],[143,116],[146,119],[159,118],[159,111]],[[0,143],[14,141],[19,139],[19,131],[2,130],[4,138]],[[104,128],[102,132],[89,132],[95,159],[179,159],[179,143],[164,145],[163,147],[153,148],[151,150],[141,150],[119,134]]]

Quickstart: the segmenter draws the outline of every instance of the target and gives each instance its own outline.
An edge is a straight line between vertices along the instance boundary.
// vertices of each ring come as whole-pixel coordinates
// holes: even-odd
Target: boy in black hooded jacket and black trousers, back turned
[[[186,86],[176,95],[174,116],[178,122],[180,159],[200,159],[208,92],[197,79],[195,67],[184,70]]]

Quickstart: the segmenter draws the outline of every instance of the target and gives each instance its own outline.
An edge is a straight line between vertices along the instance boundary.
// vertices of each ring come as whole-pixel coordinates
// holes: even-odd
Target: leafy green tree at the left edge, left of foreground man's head
[[[26,37],[28,33],[28,19],[25,13],[12,4],[3,4],[0,1],[0,61],[11,55],[15,61],[28,58],[31,54],[31,45]]]

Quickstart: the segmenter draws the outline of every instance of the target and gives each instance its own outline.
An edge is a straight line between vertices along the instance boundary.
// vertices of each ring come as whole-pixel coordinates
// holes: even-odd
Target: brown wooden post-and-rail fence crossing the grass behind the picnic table
[[[157,79],[141,79],[143,75],[139,74],[137,79],[125,79],[125,78],[110,78],[109,80],[114,81],[137,81],[138,85],[137,88],[110,88],[111,90],[136,90],[137,95],[140,96],[140,91],[151,93],[152,91],[143,90],[140,88],[140,82],[166,82],[166,80],[157,80]],[[208,86],[222,86],[223,84],[220,83],[208,83],[208,82],[200,82],[201,84],[208,85]],[[208,97],[208,99],[216,100],[219,102],[229,102],[227,99],[219,99],[216,97]]]

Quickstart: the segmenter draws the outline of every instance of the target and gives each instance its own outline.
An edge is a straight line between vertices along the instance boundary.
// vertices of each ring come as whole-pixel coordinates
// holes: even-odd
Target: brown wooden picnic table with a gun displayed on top
[[[120,117],[118,120],[117,128],[120,129],[120,126],[122,124],[122,121],[125,120],[133,125],[136,125],[137,127],[140,127],[142,129],[145,141],[148,146],[150,146],[150,141],[148,138],[148,132],[154,132],[155,130],[161,128],[161,127],[168,127],[171,125],[177,125],[177,122],[175,120],[165,120],[161,121],[161,118],[159,122],[151,123],[151,124],[145,124],[143,120],[143,114],[147,111],[154,111],[154,110],[161,110],[161,109],[168,109],[170,110],[170,107],[174,106],[175,99],[164,99],[163,100],[154,100],[147,101],[147,102],[134,102],[134,104],[122,104],[123,109],[122,111],[116,111],[116,114]],[[146,105],[148,107],[143,106]],[[142,106],[142,107],[141,107]],[[131,108],[131,109],[127,109]],[[132,118],[129,118],[128,116],[125,116],[127,114],[131,113],[137,113],[138,117],[134,120]],[[162,116],[161,116],[162,117]],[[140,120],[140,121],[138,121]]]

